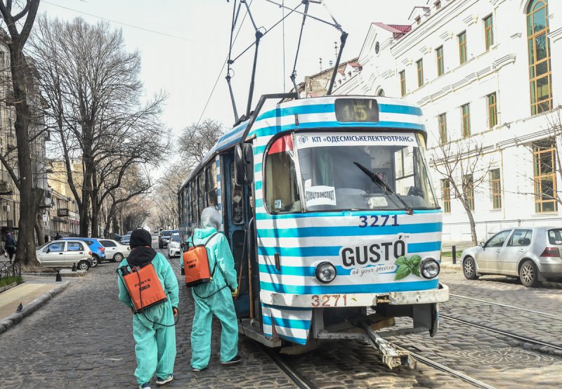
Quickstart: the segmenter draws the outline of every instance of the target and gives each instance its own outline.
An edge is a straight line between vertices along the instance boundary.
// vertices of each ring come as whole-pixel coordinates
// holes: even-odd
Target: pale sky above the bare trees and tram
[[[266,0],[248,0],[248,3],[258,27],[269,29],[282,18],[282,8]],[[300,3],[300,0],[285,0],[289,8]],[[349,34],[342,60],[358,56],[371,22],[405,24],[412,7],[425,3],[424,0],[325,0],[329,11]],[[112,27],[122,29],[126,49],[141,52],[141,80],[147,100],[159,91],[169,94],[162,118],[167,127],[164,131],[177,136],[182,128],[197,123],[200,117],[221,121],[227,128],[232,126],[234,116],[226,68],[220,70],[228,56],[233,0],[41,0],[39,13],[65,20],[80,16],[91,23],[103,18],[110,20]],[[320,4],[311,3],[309,13],[332,21]],[[242,8],[233,57],[254,41],[249,18],[240,23],[244,14]],[[290,90],[289,75],[301,22],[302,16],[296,13],[285,19],[285,70],[282,24],[261,39],[252,109],[261,94]],[[329,60],[335,60],[334,42],[339,42],[339,35],[330,25],[310,18],[306,21],[296,66],[297,83],[305,75],[320,70],[320,58],[322,68],[329,67]],[[254,48],[251,48],[233,64],[232,84],[239,114],[247,107],[253,59]]]

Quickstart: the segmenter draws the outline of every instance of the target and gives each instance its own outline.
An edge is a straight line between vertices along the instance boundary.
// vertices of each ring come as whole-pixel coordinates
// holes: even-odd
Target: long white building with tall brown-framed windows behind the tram
[[[421,106],[443,240],[471,240],[454,185],[479,241],[512,226],[562,225],[562,1],[430,0],[410,23],[373,23],[360,71],[334,94]]]

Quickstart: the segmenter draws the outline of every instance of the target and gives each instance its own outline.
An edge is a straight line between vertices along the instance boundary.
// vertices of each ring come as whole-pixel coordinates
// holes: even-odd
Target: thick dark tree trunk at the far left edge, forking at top
[[[18,261],[25,265],[39,265],[35,258],[34,227],[41,196],[44,194],[34,185],[30,150],[30,126],[32,112],[27,102],[30,68],[27,66],[23,48],[34,25],[39,0],[27,0],[25,4],[12,0],[0,1],[0,13],[10,36],[11,90],[15,108],[15,137],[18,143],[18,174],[5,160],[2,164],[10,173],[20,192],[19,242],[15,253]]]

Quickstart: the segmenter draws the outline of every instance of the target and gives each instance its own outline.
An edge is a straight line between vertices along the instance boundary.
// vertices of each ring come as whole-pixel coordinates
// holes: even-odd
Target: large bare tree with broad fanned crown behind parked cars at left
[[[100,206],[133,164],[159,164],[169,145],[160,121],[166,95],[141,103],[141,57],[124,48],[122,32],[39,18],[32,55],[44,74],[48,119],[58,136],[67,179],[80,214],[80,234],[98,234]],[[81,157],[83,179],[70,164]]]

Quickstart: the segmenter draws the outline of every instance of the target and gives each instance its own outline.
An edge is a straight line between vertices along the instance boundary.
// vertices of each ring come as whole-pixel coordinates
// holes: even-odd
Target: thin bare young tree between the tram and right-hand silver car
[[[478,187],[488,181],[492,161],[485,161],[482,143],[475,138],[464,138],[450,143],[439,143],[432,150],[430,165],[448,185],[452,198],[462,204],[469,218],[472,244],[477,245],[474,222],[474,197]],[[444,180],[444,182],[443,182]]]

